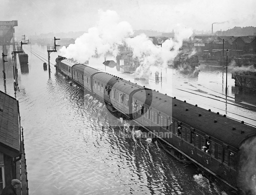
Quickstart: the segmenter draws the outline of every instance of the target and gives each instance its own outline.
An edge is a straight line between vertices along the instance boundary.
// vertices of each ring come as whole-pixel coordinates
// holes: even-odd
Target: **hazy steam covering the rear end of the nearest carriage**
[[[240,147],[238,186],[245,194],[256,194],[256,139],[247,140]]]

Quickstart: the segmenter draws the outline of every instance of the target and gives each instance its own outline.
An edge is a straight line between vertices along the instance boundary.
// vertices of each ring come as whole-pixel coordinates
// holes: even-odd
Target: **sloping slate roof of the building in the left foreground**
[[[18,101],[0,91],[0,151],[16,157],[20,151],[19,143]]]

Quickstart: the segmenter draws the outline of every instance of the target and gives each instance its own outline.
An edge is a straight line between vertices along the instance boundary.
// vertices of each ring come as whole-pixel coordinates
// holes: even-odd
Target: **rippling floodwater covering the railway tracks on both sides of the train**
[[[0,90],[19,100],[29,194],[225,194],[195,165],[180,163],[157,142],[137,136],[139,128],[109,114],[102,102],[70,85],[54,68],[58,53],[51,53],[49,72],[43,68],[46,47],[25,45],[24,50],[29,64],[17,62],[19,91],[13,89],[10,57],[6,88],[1,78]],[[90,60],[89,66],[105,71],[103,61],[104,57]],[[1,71],[2,66],[1,61]],[[155,80],[156,70],[152,67],[152,74],[137,79],[106,67],[106,72],[131,82],[256,125],[256,113],[238,107],[235,99],[254,101],[255,96],[238,93],[230,67],[227,99],[226,68],[202,64],[200,72],[190,75],[162,68],[162,82]]]

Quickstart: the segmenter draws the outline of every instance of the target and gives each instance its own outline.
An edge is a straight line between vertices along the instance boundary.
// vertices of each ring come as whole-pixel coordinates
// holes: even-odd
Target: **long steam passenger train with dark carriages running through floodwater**
[[[62,56],[56,70],[238,194],[256,194],[256,128]],[[184,158],[185,157],[185,158]]]

